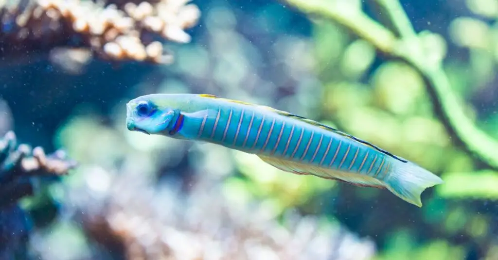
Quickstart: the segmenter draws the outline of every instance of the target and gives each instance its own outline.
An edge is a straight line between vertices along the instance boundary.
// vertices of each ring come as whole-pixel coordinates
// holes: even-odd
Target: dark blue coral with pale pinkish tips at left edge
[[[16,147],[14,133],[5,134],[0,141],[0,259],[25,254],[30,224],[17,201],[34,194],[37,176],[66,174],[75,166],[63,151],[46,156],[41,147]]]

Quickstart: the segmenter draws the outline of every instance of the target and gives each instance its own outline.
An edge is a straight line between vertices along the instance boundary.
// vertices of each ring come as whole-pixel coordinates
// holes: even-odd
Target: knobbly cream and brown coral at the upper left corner
[[[78,70],[93,54],[112,61],[170,63],[158,35],[187,43],[184,31],[194,26],[200,11],[188,0],[151,0],[140,3],[88,0],[2,1],[0,56],[50,52],[51,61]],[[73,68],[71,68],[73,67]]]

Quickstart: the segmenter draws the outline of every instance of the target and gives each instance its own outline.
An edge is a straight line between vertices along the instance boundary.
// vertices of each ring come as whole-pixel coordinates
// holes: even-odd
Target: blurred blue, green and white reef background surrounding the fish
[[[498,140],[498,0],[0,4],[0,134],[29,145],[12,132],[0,144],[1,260],[498,259],[498,151],[465,137]],[[422,40],[396,32],[382,6],[401,6]],[[379,50],[360,11],[424,51]],[[451,91],[434,94],[434,75]],[[157,92],[306,116],[446,182],[418,208],[127,131],[124,104]],[[460,105],[441,109],[451,98]],[[446,120],[460,114],[469,120]]]

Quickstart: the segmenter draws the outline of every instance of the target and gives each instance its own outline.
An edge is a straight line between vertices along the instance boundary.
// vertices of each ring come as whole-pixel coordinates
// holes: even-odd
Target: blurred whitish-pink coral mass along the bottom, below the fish
[[[264,203],[236,203],[233,193],[206,177],[188,185],[171,179],[155,184],[136,172],[136,160],[126,160],[119,171],[82,170],[84,184],[71,188],[65,199],[73,205],[66,204],[73,221],[82,223],[89,238],[107,252],[124,245],[128,260],[367,260],[375,253],[371,240],[337,223],[287,213],[282,225],[267,214]],[[36,240],[42,259],[75,259],[61,257],[47,244],[50,240]]]

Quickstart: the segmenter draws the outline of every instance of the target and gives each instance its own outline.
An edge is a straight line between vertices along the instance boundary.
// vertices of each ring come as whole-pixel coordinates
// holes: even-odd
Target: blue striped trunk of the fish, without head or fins
[[[372,147],[259,106],[213,99],[210,108],[217,111],[215,118],[188,126],[202,141],[376,177],[384,175],[391,164],[386,155]]]

